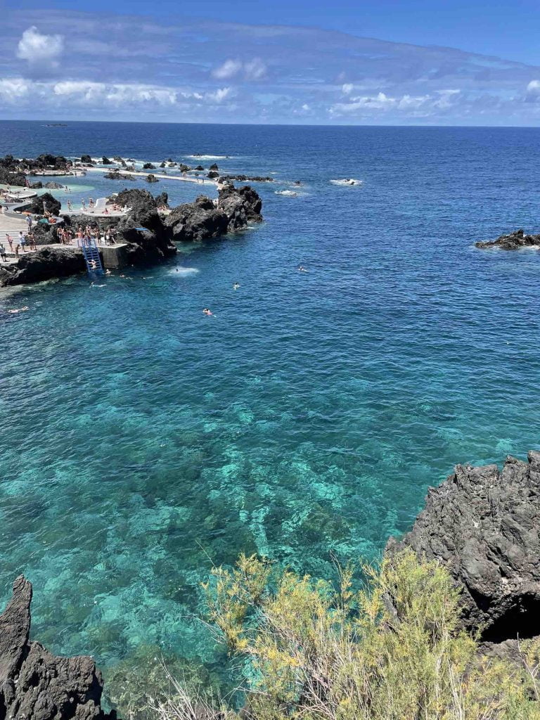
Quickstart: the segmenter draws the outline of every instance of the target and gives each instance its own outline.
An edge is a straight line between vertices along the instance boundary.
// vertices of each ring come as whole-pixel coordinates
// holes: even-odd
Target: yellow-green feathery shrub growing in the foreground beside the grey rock
[[[240,557],[207,587],[210,621],[248,668],[237,714],[169,678],[160,720],[532,720],[540,718],[539,644],[519,662],[488,658],[459,629],[459,591],[412,552],[351,568],[334,588]],[[269,588],[272,588],[271,590]],[[189,684],[189,683],[188,683]]]

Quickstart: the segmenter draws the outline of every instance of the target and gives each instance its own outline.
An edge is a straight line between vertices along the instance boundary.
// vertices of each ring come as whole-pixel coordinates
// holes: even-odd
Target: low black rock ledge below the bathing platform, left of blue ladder
[[[62,245],[57,248],[38,248],[33,253],[19,253],[18,264],[0,266],[0,287],[68,277],[84,269],[82,253],[75,248]]]

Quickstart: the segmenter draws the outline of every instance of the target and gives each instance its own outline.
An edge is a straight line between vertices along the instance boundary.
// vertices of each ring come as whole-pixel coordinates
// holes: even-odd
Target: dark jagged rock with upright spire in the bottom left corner
[[[102,675],[91,657],[57,657],[30,642],[32,585],[22,575],[0,616],[0,717],[114,720],[100,706]]]

